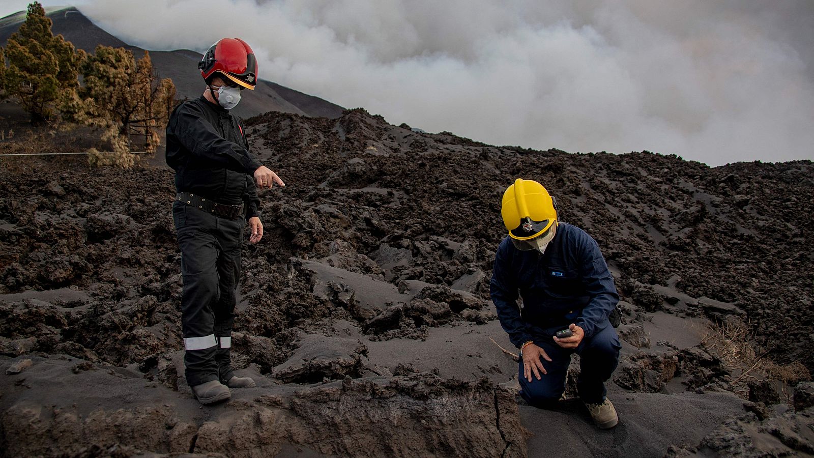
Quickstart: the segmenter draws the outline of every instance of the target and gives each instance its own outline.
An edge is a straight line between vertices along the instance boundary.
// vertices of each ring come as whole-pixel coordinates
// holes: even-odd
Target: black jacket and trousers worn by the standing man
[[[234,375],[230,348],[243,230],[247,218],[260,216],[252,179],[260,162],[249,152],[244,131],[239,117],[203,96],[178,105],[167,124],[167,164],[175,170],[177,191],[244,209],[230,219],[173,202],[190,386],[213,380],[225,384]]]

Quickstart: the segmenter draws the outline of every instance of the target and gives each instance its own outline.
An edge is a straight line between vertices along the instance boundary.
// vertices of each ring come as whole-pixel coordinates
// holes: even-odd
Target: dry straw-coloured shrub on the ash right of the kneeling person
[[[789,402],[787,388],[811,379],[811,374],[802,363],[778,364],[768,359],[773,342],[769,341],[766,346],[759,345],[750,326],[737,319],[713,324],[701,344],[729,370],[733,378],[729,381],[728,389],[743,399],[747,399],[749,394],[750,381],[781,381],[786,402]]]

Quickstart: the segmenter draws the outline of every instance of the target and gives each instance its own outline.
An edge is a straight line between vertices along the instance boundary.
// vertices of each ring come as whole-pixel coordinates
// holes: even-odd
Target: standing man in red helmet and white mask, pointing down
[[[181,103],[167,124],[167,164],[175,170],[173,220],[184,280],[182,330],[186,381],[200,403],[229,399],[255,385],[230,368],[243,227],[263,237],[256,187],[285,186],[248,150],[240,118],[229,110],[253,90],[257,61],[239,38],[223,38],[198,64],[204,95]]]

